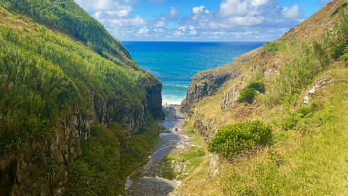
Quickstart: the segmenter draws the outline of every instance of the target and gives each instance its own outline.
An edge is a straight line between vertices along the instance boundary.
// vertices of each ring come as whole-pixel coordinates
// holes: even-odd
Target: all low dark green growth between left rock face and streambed
[[[90,140],[81,144],[81,156],[69,164],[65,195],[124,194],[126,177],[148,158],[159,131],[150,116],[141,133],[130,138],[117,123],[94,126]]]

